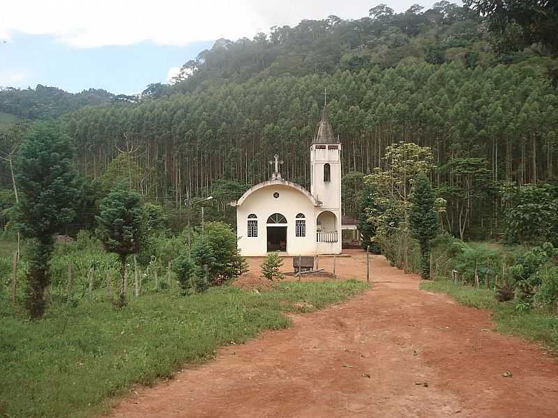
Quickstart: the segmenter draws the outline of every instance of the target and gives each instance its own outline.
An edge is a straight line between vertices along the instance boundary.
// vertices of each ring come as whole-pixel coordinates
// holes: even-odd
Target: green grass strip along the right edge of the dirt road
[[[425,281],[421,288],[446,293],[469,307],[490,309],[499,332],[543,343],[558,353],[558,316],[550,311],[534,309],[518,312],[512,302],[497,302],[494,291],[455,285],[448,280]]]

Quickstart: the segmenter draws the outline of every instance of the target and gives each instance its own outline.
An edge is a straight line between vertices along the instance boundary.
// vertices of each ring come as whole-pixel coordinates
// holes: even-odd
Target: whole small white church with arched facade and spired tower
[[[269,251],[292,256],[341,253],[342,229],[356,225],[341,224],[341,144],[326,105],[310,146],[310,163],[310,192],[281,177],[275,155],[271,180],[231,203],[243,256],[265,256]]]

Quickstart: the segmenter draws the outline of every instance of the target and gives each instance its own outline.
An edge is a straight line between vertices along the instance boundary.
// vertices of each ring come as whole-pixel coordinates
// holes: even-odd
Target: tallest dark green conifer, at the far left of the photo
[[[33,318],[45,312],[54,233],[75,216],[77,189],[72,157],[69,139],[56,127],[42,124],[25,137],[15,164],[20,201],[14,217],[17,229],[31,240],[26,306]]]

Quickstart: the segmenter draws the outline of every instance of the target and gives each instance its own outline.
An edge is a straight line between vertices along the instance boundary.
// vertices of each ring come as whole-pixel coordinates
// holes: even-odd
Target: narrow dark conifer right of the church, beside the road
[[[436,196],[426,176],[418,176],[412,185],[409,230],[421,247],[421,277],[430,278],[430,240],[439,231],[439,219],[435,209]]]

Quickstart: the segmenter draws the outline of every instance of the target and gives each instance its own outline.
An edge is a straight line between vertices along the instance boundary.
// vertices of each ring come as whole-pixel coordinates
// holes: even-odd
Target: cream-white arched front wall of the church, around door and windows
[[[278,192],[279,197],[273,197]],[[248,215],[257,216],[257,237],[248,237]],[[315,254],[316,215],[308,196],[287,185],[269,185],[252,192],[241,206],[236,208],[236,231],[238,246],[243,256],[265,256],[267,254],[267,219],[273,213],[287,218],[287,254]],[[306,216],[306,236],[297,237],[296,215]]]

